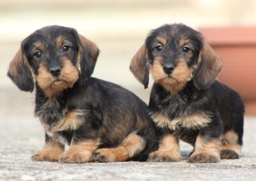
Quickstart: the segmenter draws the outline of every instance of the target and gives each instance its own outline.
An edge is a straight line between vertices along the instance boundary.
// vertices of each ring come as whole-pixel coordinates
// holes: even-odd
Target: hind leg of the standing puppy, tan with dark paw
[[[239,135],[234,131],[227,131],[221,138],[221,159],[239,159],[241,147]]]

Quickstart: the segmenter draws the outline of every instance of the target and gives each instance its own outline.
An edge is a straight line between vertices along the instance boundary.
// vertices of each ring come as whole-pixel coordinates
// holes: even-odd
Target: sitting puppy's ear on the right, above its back
[[[81,54],[80,68],[82,75],[88,78],[93,73],[100,50],[95,43],[81,34],[78,34],[78,37],[80,41],[79,54]]]

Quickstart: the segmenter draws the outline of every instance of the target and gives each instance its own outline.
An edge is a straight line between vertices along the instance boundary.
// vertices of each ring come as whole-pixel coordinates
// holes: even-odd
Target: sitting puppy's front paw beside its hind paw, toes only
[[[92,154],[90,152],[76,152],[68,150],[61,154],[60,163],[88,163]]]

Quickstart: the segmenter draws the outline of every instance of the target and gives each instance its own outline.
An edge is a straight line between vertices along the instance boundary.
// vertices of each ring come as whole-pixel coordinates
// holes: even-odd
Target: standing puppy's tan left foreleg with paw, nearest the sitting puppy
[[[156,152],[149,154],[147,161],[181,161],[179,139],[172,134],[164,136],[164,138],[159,141],[159,149]]]

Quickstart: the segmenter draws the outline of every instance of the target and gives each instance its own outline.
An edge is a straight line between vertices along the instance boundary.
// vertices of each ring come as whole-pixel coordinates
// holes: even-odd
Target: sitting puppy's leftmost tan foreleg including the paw
[[[64,151],[64,145],[56,140],[45,143],[42,150],[36,150],[32,156],[33,161],[58,161]]]

